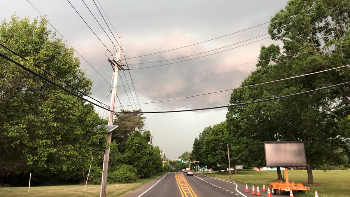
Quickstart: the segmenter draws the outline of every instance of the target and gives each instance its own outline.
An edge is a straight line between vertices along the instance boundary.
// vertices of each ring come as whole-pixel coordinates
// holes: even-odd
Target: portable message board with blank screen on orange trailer
[[[264,142],[266,167],[285,168],[286,182],[272,182],[271,193],[280,191],[307,191],[308,187],[294,181],[289,183],[288,167],[306,167],[305,145],[303,142]]]

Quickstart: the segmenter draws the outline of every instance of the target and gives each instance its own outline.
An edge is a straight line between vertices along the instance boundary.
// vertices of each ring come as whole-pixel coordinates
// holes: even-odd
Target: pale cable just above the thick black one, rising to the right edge
[[[307,76],[307,75],[313,75],[313,74],[322,73],[322,72],[326,72],[326,71],[329,71],[329,70],[339,69],[339,68],[348,67],[348,66],[350,66],[350,64],[345,65],[345,66],[336,67],[336,68],[327,69],[327,70],[321,70],[321,71],[314,72],[314,73],[308,73],[308,74],[304,74],[304,75],[288,77],[288,78],[285,78],[285,79],[279,79],[279,80],[274,80],[274,81],[269,81],[269,82],[253,84],[253,85],[249,85],[249,86],[243,86],[243,87],[232,88],[232,89],[227,89],[227,90],[220,90],[220,91],[204,93],[204,94],[197,94],[197,95],[192,95],[192,96],[185,96],[185,97],[180,97],[180,98],[176,98],[176,99],[167,99],[167,100],[162,100],[162,101],[153,101],[153,102],[148,102],[148,103],[141,103],[139,105],[151,104],[151,103],[159,103],[159,102],[165,102],[165,101],[173,101],[173,100],[179,100],[179,99],[187,99],[187,98],[196,97],[196,96],[203,96],[203,95],[208,95],[208,94],[221,93],[221,92],[231,91],[231,90],[240,89],[240,88],[247,88],[247,87],[258,86],[258,85],[267,84],[267,83],[273,83],[273,82],[278,82],[278,81],[283,81],[283,80],[288,80],[288,79],[294,79],[294,78],[297,78],[297,77],[302,77],[302,76]]]

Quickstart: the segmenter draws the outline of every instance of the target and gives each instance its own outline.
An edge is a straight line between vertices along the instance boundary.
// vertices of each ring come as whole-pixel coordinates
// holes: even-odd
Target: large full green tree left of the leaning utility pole
[[[92,82],[73,49],[47,30],[46,20],[30,23],[13,15],[1,24],[0,43],[27,61],[3,47],[0,53],[65,86],[41,69],[46,70],[79,89],[65,86],[80,96],[91,94]],[[106,131],[93,128],[106,121],[91,104],[3,58],[0,78],[0,175],[35,172],[47,179],[79,181],[85,163],[103,155]]]

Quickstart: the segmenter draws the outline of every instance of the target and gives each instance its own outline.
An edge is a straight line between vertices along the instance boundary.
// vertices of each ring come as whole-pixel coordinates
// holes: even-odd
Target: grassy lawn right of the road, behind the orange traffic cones
[[[348,197],[350,196],[350,171],[349,170],[313,170],[314,184],[307,184],[307,171],[306,170],[288,170],[289,182],[302,183],[306,187],[310,188],[310,191],[306,192],[294,192],[294,196],[315,196],[315,190],[320,197]],[[273,180],[277,178],[275,170],[270,171],[238,171],[236,175],[232,174],[231,181],[236,181],[242,184],[259,185],[260,191],[262,190],[262,184],[269,185]],[[212,177],[222,178],[230,180],[229,173],[220,172],[205,173]],[[274,181],[277,182],[277,181]],[[267,188],[266,188],[267,189]],[[251,189],[250,189],[251,191]],[[278,192],[277,192],[278,194]]]

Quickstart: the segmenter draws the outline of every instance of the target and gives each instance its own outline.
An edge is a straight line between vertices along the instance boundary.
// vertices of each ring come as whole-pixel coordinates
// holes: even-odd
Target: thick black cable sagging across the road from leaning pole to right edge
[[[185,110],[173,110],[173,111],[143,111],[142,113],[144,114],[159,114],[159,113],[175,113],[175,112],[185,112],[185,111],[199,111],[199,110],[207,110],[207,109],[219,109],[219,108],[227,108],[227,107],[236,107],[236,106],[243,106],[243,105],[247,105],[247,104],[253,104],[253,103],[261,103],[261,102],[265,102],[265,101],[273,101],[273,100],[277,100],[277,99],[284,99],[290,96],[297,96],[297,95],[303,95],[303,94],[308,94],[308,93],[313,93],[315,91],[320,91],[320,90],[324,90],[324,89],[329,89],[329,88],[334,88],[337,86],[342,86],[342,85],[346,85],[349,84],[349,82],[344,82],[344,83],[339,83],[336,85],[332,85],[332,86],[328,86],[328,87],[322,87],[322,88],[318,88],[318,89],[314,89],[314,90],[308,90],[308,91],[304,91],[301,93],[295,93],[295,94],[290,94],[290,95],[285,95],[285,96],[279,96],[279,97],[274,97],[274,98],[270,98],[270,99],[264,99],[264,100],[259,100],[259,101],[252,101],[252,102],[247,102],[247,103],[238,103],[238,104],[231,104],[231,105],[227,105],[227,106],[219,106],[219,107],[208,107],[208,108],[201,108],[201,109],[185,109]],[[128,112],[116,112],[116,113],[129,113],[129,114],[134,114],[136,112],[132,112],[132,111],[128,111]]]

